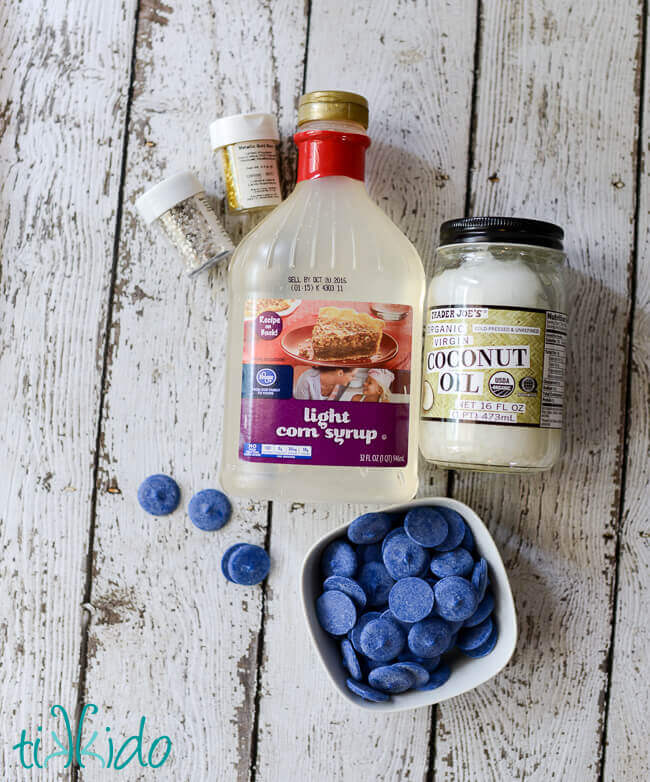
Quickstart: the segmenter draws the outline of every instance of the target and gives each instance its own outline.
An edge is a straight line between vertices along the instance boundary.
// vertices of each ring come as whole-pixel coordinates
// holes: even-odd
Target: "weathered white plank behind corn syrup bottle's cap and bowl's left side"
[[[307,88],[367,96],[370,193],[428,268],[440,221],[464,208],[475,13],[473,2],[312,4]],[[444,494],[445,487],[443,471],[422,472],[421,493]],[[273,506],[258,780],[426,773],[430,710],[378,718],[351,707],[321,669],[299,604],[298,574],[309,546],[367,507]]]

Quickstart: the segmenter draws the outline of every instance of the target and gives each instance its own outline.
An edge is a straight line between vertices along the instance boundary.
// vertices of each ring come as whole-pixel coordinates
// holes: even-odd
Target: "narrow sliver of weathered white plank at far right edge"
[[[647,720],[650,691],[650,53],[646,24],[645,89],[641,93],[642,137],[638,203],[636,296],[626,441],[623,515],[619,531],[618,592],[612,650],[604,779],[650,779]]]

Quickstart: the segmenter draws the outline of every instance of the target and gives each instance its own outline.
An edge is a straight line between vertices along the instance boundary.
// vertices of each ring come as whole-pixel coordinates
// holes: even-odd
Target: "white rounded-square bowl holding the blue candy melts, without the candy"
[[[430,497],[428,499],[412,500],[402,505],[391,505],[382,510],[390,513],[406,512],[410,508],[422,505],[442,505],[457,511],[469,525],[476,541],[477,551],[487,560],[496,605],[494,616],[497,621],[499,638],[497,644],[486,657],[471,659],[458,652],[458,657],[451,665],[449,680],[435,690],[402,693],[393,695],[390,701],[372,703],[366,701],[348,690],[345,681],[348,674],[341,661],[340,641],[329,636],[318,622],[316,616],[316,599],[321,594],[322,576],[320,559],[323,549],[335,538],[345,537],[348,524],[343,524],[317,541],[307,552],[302,565],[301,594],[302,606],[307,620],[307,627],[318,656],[330,678],[330,681],[350,703],[363,709],[373,711],[404,711],[417,709],[421,706],[431,706],[434,703],[454,698],[479,684],[491,679],[507,665],[512,657],[517,643],[517,615],[512,598],[510,582],[503,566],[501,555],[487,527],[474,511],[467,505],[449,497]],[[350,519],[350,522],[352,519]]]

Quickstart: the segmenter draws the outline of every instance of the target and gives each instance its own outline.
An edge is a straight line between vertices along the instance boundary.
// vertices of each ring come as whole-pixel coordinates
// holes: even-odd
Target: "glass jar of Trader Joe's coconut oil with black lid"
[[[440,229],[425,312],[420,449],[447,468],[547,470],[560,455],[564,232],[510,217]]]

